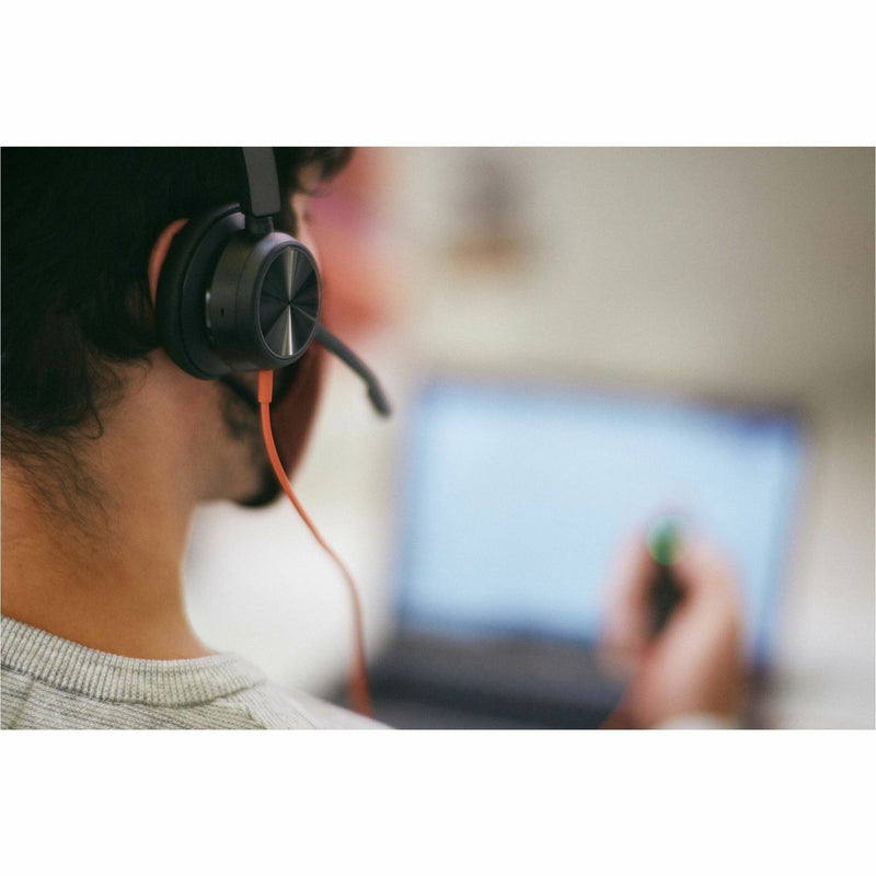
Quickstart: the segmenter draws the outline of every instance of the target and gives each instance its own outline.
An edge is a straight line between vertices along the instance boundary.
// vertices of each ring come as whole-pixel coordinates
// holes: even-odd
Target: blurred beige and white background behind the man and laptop
[[[406,402],[433,374],[793,406],[807,466],[770,717],[874,726],[874,151],[365,149],[313,206],[330,367],[295,486],[391,633]],[[341,579],[287,505],[199,516],[195,629],[316,693],[350,652]]]

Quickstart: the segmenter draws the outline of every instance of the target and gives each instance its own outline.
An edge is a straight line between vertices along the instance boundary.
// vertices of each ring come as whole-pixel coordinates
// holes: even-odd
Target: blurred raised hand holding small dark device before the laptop
[[[630,681],[607,727],[655,727],[683,715],[738,719],[744,690],[739,589],[727,561],[699,541],[672,564],[682,590],[664,630],[648,630],[654,560],[644,535],[620,557],[609,591],[603,656]]]

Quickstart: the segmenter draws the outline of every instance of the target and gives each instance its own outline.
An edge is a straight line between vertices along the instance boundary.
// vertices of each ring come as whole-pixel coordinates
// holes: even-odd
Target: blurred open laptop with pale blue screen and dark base
[[[746,656],[769,666],[803,464],[787,412],[546,384],[417,393],[399,521],[396,633],[373,662],[396,727],[597,727],[596,659],[622,540],[671,511],[740,574]]]

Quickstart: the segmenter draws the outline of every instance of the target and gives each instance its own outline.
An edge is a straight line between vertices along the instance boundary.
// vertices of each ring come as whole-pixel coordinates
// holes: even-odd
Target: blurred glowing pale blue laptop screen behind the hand
[[[802,462],[791,417],[438,382],[410,440],[404,629],[592,643],[623,540],[672,512],[730,556],[749,656],[766,657]]]

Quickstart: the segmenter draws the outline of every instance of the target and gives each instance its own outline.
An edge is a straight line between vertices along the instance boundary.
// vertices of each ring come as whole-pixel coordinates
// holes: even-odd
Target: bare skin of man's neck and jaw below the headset
[[[78,469],[56,462],[37,479],[3,460],[2,610],[127,657],[203,656],[183,601],[188,531],[200,502],[258,491],[257,418],[231,435],[226,391],[160,350],[122,376],[125,392],[103,412],[100,437],[77,445]],[[41,459],[55,458],[45,449]],[[77,471],[87,474],[79,484],[69,481]],[[41,494],[80,507],[59,514]]]

